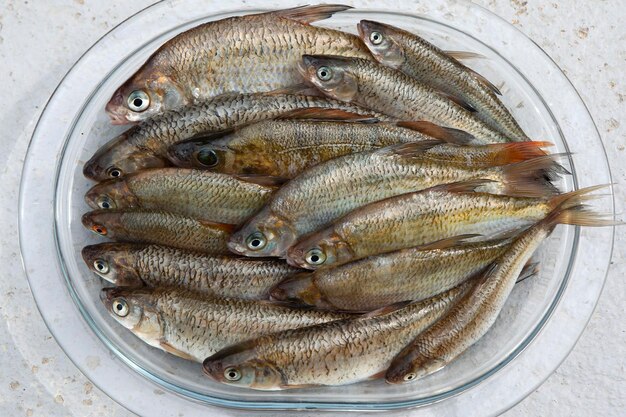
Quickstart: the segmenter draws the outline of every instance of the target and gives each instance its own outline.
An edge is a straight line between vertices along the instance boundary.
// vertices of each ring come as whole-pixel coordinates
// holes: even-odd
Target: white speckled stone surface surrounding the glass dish
[[[46,329],[17,245],[20,171],[46,100],[100,36],[150,0],[4,0],[0,7],[0,416],[129,416],[69,361]],[[260,1],[243,0],[252,5]],[[371,7],[384,8],[381,1]],[[399,2],[393,2],[394,5]],[[403,9],[410,10],[411,1]],[[625,212],[626,3],[477,0],[520,28],[557,62],[589,107],[607,149],[616,210]],[[52,157],[51,157],[52,158]],[[54,163],[53,160],[50,161]],[[45,231],[48,233],[49,231]],[[622,416],[626,410],[626,266],[618,230],[606,287],[561,367],[507,416]],[[89,366],[100,366],[97,361]]]

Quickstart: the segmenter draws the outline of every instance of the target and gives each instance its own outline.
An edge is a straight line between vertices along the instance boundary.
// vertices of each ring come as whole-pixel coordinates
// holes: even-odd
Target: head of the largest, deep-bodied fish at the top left
[[[140,122],[187,104],[183,89],[150,61],[118,88],[106,105],[111,123]]]

